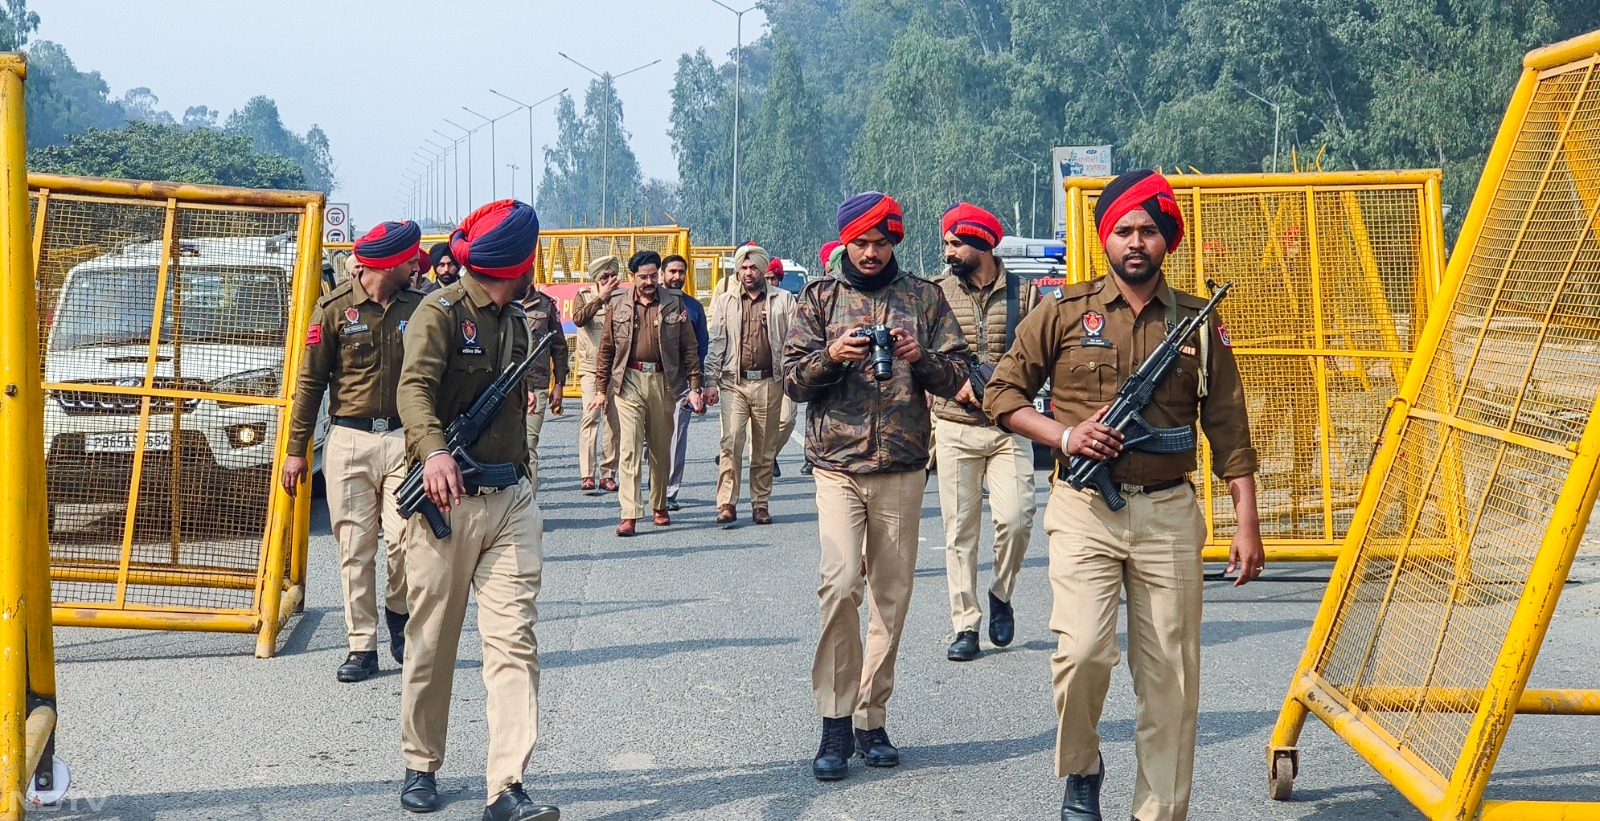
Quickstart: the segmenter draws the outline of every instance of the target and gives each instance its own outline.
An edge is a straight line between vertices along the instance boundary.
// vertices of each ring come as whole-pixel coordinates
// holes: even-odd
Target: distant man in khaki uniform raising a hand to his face
[[[578,472],[582,474],[581,490],[595,490],[595,477],[600,479],[600,490],[616,491],[616,447],[618,426],[616,406],[603,405],[590,410],[595,397],[597,371],[600,360],[600,336],[606,326],[606,304],[616,294],[622,261],[616,254],[606,254],[589,262],[589,282],[592,285],[578,291],[573,298],[573,325],[578,325],[578,387],[582,392],[584,418],[578,424]],[[602,443],[600,466],[595,472],[595,442]]]

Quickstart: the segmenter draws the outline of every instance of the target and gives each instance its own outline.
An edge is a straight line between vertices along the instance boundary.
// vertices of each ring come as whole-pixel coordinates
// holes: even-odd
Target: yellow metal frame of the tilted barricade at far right
[[[1429,366],[1411,368],[1402,395],[1395,400],[1398,413],[1390,413],[1386,421],[1381,448],[1368,474],[1362,504],[1357,509],[1355,522],[1346,539],[1346,549],[1334,565],[1333,579],[1317,611],[1306,651],[1301,656],[1278,720],[1272,730],[1272,738],[1266,751],[1269,795],[1272,799],[1288,800],[1293,794],[1294,778],[1299,775],[1299,735],[1307,715],[1317,715],[1427,818],[1482,818],[1485,821],[1600,819],[1600,802],[1483,800],[1494,762],[1515,715],[1600,714],[1600,690],[1526,688],[1546,631],[1555,615],[1562,586],[1571,570],[1578,546],[1589,523],[1597,491],[1600,491],[1600,395],[1589,403],[1589,418],[1581,437],[1576,442],[1568,442],[1565,447],[1542,439],[1523,437],[1509,429],[1482,429],[1483,426],[1475,426],[1478,429],[1474,429],[1472,423],[1456,416],[1454,410],[1438,411],[1429,408],[1426,406],[1429,400],[1424,398],[1427,374],[1432,370],[1434,358],[1456,355],[1454,349],[1442,350],[1443,338],[1450,331],[1458,299],[1467,296],[1464,288],[1469,269],[1477,261],[1478,245],[1486,235],[1491,210],[1498,205],[1514,205],[1515,210],[1522,211],[1522,218],[1518,219],[1520,230],[1512,251],[1504,259],[1488,266],[1498,269],[1498,285],[1490,301],[1493,309],[1506,296],[1504,286],[1510,277],[1510,270],[1522,259],[1518,254],[1530,253],[1525,246],[1525,237],[1528,227],[1536,224],[1536,208],[1541,203],[1541,197],[1544,197],[1546,187],[1550,184],[1557,163],[1563,158],[1568,163],[1578,160],[1568,154],[1573,149],[1566,138],[1570,136],[1576,110],[1586,99],[1584,94],[1590,94],[1587,99],[1594,102],[1595,90],[1600,88],[1600,72],[1597,69],[1600,69],[1600,32],[1531,51],[1523,61],[1522,77],[1512,93],[1499,133],[1490,150],[1483,176],[1480,178],[1461,230],[1461,238],[1456,245],[1456,253],[1451,256],[1445,290],[1440,293],[1437,302],[1440,307],[1430,312],[1422,347],[1416,354],[1416,362],[1419,365],[1427,363]],[[1528,200],[1530,205],[1523,210],[1520,200],[1510,200],[1512,189],[1507,182],[1512,157],[1523,147],[1522,138],[1525,126],[1531,122],[1533,104],[1541,91],[1541,83],[1571,72],[1586,72],[1582,86],[1570,106],[1562,104],[1565,114],[1562,114],[1560,136],[1554,147],[1549,149],[1550,158],[1544,165],[1538,190],[1534,190]],[[1544,134],[1538,136],[1542,138]],[[1594,139],[1592,131],[1589,138],[1590,141]],[[1592,171],[1590,168],[1590,178]],[[1600,216],[1600,197],[1595,197],[1594,190],[1584,190],[1576,179],[1573,184],[1578,197],[1584,200],[1589,219],[1582,221],[1576,229],[1579,242],[1574,243],[1573,256],[1565,259],[1566,269],[1562,274],[1562,280],[1557,282],[1557,288],[1565,286],[1566,278],[1571,275],[1579,251],[1584,248],[1582,240],[1587,237],[1590,243],[1595,242],[1595,224],[1597,216]],[[1501,203],[1502,190],[1506,192],[1507,203]],[[1554,301],[1550,310],[1555,310]],[[1483,339],[1491,317],[1493,314],[1485,314],[1485,325],[1478,331],[1474,357],[1483,350]],[[1549,314],[1544,322],[1546,326],[1550,323]],[[1474,330],[1474,326],[1467,326],[1467,330]],[[1536,344],[1542,344],[1544,333],[1541,330],[1541,338]],[[1530,370],[1534,366],[1534,362],[1536,358],[1528,360]],[[1450,368],[1458,370],[1456,365]],[[1469,363],[1467,376],[1472,373],[1470,368],[1472,363]],[[1467,376],[1462,376],[1462,379]],[[1450,387],[1454,389],[1458,386],[1451,382]],[[1526,390],[1526,382],[1523,390]],[[1525,395],[1518,394],[1518,397]],[[1397,467],[1397,458],[1403,445],[1402,439],[1413,423],[1422,431],[1427,431],[1427,424],[1437,424],[1442,431],[1438,435],[1445,437],[1451,434],[1496,437],[1504,445],[1515,443],[1547,453],[1552,458],[1570,459],[1570,467],[1562,479],[1562,488],[1555,498],[1550,519],[1539,536],[1538,554],[1533,557],[1522,594],[1517,597],[1504,642],[1499,645],[1488,680],[1482,687],[1360,687],[1341,690],[1322,675],[1320,664],[1333,648],[1336,623],[1346,611],[1349,597],[1354,595],[1358,563],[1370,552],[1390,547],[1387,544],[1373,544],[1366,536],[1374,527],[1379,491],[1386,487],[1389,474],[1400,469]],[[1445,445],[1440,445],[1438,450],[1440,456],[1437,459],[1445,459],[1451,451]],[[1448,472],[1448,467],[1445,472]],[[1485,504],[1486,499],[1485,496]],[[1414,519],[1410,527],[1416,527]],[[1464,552],[1470,549],[1470,543],[1462,547],[1451,546],[1451,549],[1462,551],[1458,559],[1459,565],[1466,565],[1472,559],[1469,552]],[[1398,576],[1400,573],[1395,573],[1394,578]],[[1435,658],[1429,669],[1437,669],[1437,664],[1438,659]],[[1422,707],[1430,707],[1434,712],[1470,712],[1472,723],[1464,735],[1459,755],[1453,762],[1451,770],[1448,773],[1440,771],[1440,768],[1424,760],[1424,755],[1413,752],[1410,741],[1400,741],[1382,730],[1376,723],[1376,719],[1368,714],[1368,709],[1374,707],[1374,704],[1384,704],[1389,709],[1395,709],[1397,704],[1416,707],[1418,712],[1413,712],[1413,715],[1419,715]]]

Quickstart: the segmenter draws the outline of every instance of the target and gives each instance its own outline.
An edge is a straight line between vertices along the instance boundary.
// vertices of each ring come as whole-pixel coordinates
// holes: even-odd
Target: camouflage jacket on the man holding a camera
[[[866,363],[827,357],[834,339],[878,323],[910,331],[922,358],[894,360],[894,376],[878,382]],[[931,421],[923,392],[954,397],[966,381],[965,358],[966,338],[938,285],[910,274],[877,291],[832,277],[811,282],[784,342],[784,392],[806,403],[806,458],[819,471],[846,474],[925,469]]]

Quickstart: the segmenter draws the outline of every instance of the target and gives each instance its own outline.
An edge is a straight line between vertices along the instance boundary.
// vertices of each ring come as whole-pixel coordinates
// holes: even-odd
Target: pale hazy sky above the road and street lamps
[[[733,13],[712,0],[32,0],[29,8],[40,16],[34,38],[66,46],[115,98],[147,86],[160,109],[182,118],[189,106],[227,117],[266,94],[293,131],[320,125],[339,178],[330,202],[350,203],[357,226],[416,216],[400,214],[402,190],[422,173],[411,157],[438,154],[424,139],[448,144],[435,128],[459,134],[445,118],[483,123],[462,106],[515,114],[494,126],[498,168],[490,130],[474,134],[470,202],[461,144],[461,211],[512,195],[514,184],[530,200],[528,112],[490,90],[531,104],[570,88],[582,106],[594,75],[558,51],[613,74],[661,59],[616,80],[614,93],[645,178],[677,179],[667,128],[678,56],[704,46],[722,62],[736,42]],[[744,16],[746,43],[763,30],[760,11]],[[542,147],[555,142],[554,109],[555,101],[534,109],[534,182]],[[515,174],[507,163],[520,166]],[[454,213],[454,152],[445,165],[445,205]]]

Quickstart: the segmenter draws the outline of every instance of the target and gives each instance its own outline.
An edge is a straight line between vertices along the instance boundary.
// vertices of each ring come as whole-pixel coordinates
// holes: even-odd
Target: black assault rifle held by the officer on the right
[[[1133,371],[1133,376],[1122,382],[1117,398],[1112,400],[1110,410],[1101,419],[1101,424],[1122,432],[1125,437],[1122,440],[1123,448],[1138,448],[1147,453],[1184,453],[1195,450],[1194,427],[1155,427],[1144,421],[1144,416],[1139,416],[1139,413],[1150,403],[1150,394],[1155,392],[1155,386],[1173,370],[1173,363],[1178,362],[1178,349],[1195,331],[1205,328],[1205,320],[1211,314],[1216,314],[1218,302],[1234,286],[1232,282],[1218,286],[1210,280],[1205,285],[1211,290],[1211,301],[1200,309],[1200,314],[1166,330],[1166,339],[1162,339],[1162,344],[1150,352],[1150,357],[1139,365],[1139,370]],[[1106,499],[1107,507],[1122,511],[1122,506],[1128,504],[1128,501],[1122,498],[1120,488],[1110,480],[1112,461],[1115,459],[1102,463],[1083,455],[1072,455],[1067,458],[1067,483],[1072,485],[1072,490],[1093,487]]]

